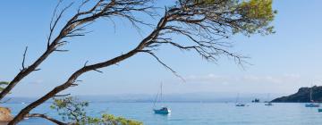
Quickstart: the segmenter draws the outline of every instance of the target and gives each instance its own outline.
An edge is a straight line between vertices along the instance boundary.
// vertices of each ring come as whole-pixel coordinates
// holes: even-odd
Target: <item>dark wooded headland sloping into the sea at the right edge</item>
[[[309,90],[312,88],[312,100],[322,102],[322,86],[301,87],[297,93],[290,96],[275,98],[271,102],[275,103],[309,103]]]

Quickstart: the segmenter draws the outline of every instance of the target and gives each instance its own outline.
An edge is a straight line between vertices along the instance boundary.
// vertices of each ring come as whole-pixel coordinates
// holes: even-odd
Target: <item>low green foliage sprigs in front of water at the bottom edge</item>
[[[88,102],[81,102],[75,97],[69,96],[61,99],[54,98],[54,103],[50,106],[55,109],[64,121],[72,121],[76,125],[104,124],[104,125],[142,125],[140,121],[127,120],[123,117],[116,117],[112,114],[102,114],[101,118],[90,117],[85,108]]]

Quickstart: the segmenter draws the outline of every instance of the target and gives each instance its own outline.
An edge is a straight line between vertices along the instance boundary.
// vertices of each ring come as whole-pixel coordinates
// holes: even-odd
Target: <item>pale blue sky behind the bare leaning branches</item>
[[[171,4],[172,0],[158,2]],[[21,69],[22,54],[29,47],[26,65],[46,50],[49,22],[56,0],[15,1],[0,4],[0,80],[10,81]],[[155,94],[159,84],[164,93],[278,93],[292,94],[300,87],[322,86],[322,8],[320,0],[275,0],[278,11],[276,33],[269,36],[237,35],[229,40],[231,51],[249,56],[244,68],[232,59],[221,57],[210,63],[192,52],[162,46],[157,55],[186,81],[166,70],[148,54],[137,54],[118,65],[98,73],[90,71],[80,77],[77,87],[63,94],[118,95]],[[71,15],[64,15],[64,20]],[[140,17],[144,19],[145,17]],[[153,22],[153,21],[152,21]],[[115,27],[114,27],[115,26]],[[21,80],[10,96],[42,96],[64,81],[86,61],[98,63],[126,53],[148,33],[139,33],[128,21],[101,20],[89,27],[85,37],[75,37],[64,46],[70,50],[51,54],[40,71]],[[179,37],[180,38],[180,37]]]

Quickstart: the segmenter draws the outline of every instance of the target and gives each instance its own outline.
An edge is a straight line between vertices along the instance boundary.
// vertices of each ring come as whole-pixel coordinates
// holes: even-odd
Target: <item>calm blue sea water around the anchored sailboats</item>
[[[13,114],[25,104],[5,104],[13,109]],[[34,112],[47,113],[59,119],[55,111],[49,109],[50,104],[43,104]],[[168,103],[172,109],[169,115],[152,112],[150,103],[91,103],[91,115],[101,112],[112,113],[138,121],[147,125],[310,125],[322,124],[322,112],[318,108],[306,108],[304,104],[249,104],[247,107],[235,107],[234,104],[221,103]],[[22,125],[51,124],[42,119],[29,119]]]

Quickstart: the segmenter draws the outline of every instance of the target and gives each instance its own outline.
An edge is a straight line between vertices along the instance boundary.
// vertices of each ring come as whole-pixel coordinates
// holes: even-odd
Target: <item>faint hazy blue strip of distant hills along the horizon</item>
[[[247,94],[240,93],[238,97],[239,102],[250,103],[255,98],[260,102],[271,101],[280,96],[288,96],[285,94]],[[153,103],[156,95],[151,94],[119,94],[119,95],[73,95],[80,100],[89,102],[111,102],[111,103],[126,103],[126,102],[141,102]],[[36,98],[35,96],[8,96],[4,100],[9,99],[7,103],[31,103]],[[235,93],[187,93],[187,94],[164,94],[162,102],[191,102],[191,103],[235,103],[237,95]],[[52,100],[47,101],[51,103]]]

